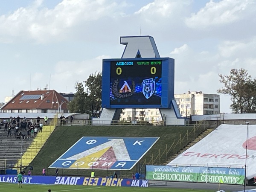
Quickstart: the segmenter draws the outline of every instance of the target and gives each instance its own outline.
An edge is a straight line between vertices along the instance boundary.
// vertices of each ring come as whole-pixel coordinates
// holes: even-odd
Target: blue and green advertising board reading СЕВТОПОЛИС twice
[[[192,166],[146,166],[147,180],[244,184],[244,169]]]

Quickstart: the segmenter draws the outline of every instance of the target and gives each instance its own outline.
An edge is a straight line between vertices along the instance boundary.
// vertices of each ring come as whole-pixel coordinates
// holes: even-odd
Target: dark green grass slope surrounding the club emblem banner
[[[31,163],[33,166],[33,175],[40,175],[42,169],[47,169],[58,157],[60,157],[68,148],[76,143],[81,137],[86,136],[98,136],[98,137],[160,137],[157,143],[148,151],[148,153],[140,160],[140,164],[143,164],[146,160],[148,163],[154,154],[163,153],[166,149],[172,145],[174,140],[177,142],[186,134],[187,131],[191,131],[193,127],[169,127],[169,126],[58,126],[52,135],[49,137],[47,143],[38,153],[37,157]],[[192,141],[195,136],[200,133],[191,134],[188,139],[183,140],[182,143],[178,143],[175,149],[172,149],[168,157],[174,152],[183,148],[187,143]],[[160,160],[157,160],[154,164],[164,163],[168,158],[166,154]],[[27,172],[27,171],[26,171]],[[47,169],[47,175],[54,175],[55,169]],[[136,172],[136,166],[130,171],[123,171],[123,177],[130,177],[132,172]],[[97,170],[98,176],[112,175],[113,171]],[[74,170],[74,169],[59,169],[59,175],[82,175],[89,176],[90,170]]]

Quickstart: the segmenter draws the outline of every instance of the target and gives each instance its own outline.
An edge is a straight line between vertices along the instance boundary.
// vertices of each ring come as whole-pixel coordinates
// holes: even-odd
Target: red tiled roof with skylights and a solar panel
[[[54,102],[54,104],[52,104]],[[58,102],[65,102],[61,109],[67,109],[67,99],[61,96],[55,90],[31,90],[20,91],[12,98],[1,110],[9,109],[58,109]],[[54,108],[55,106],[55,108]]]

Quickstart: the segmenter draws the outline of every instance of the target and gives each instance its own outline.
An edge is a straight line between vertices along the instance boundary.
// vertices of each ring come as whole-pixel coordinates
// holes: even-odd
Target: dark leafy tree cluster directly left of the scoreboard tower
[[[102,73],[90,74],[83,83],[76,83],[76,93],[68,110],[71,113],[87,113],[91,117],[98,117],[102,102]]]

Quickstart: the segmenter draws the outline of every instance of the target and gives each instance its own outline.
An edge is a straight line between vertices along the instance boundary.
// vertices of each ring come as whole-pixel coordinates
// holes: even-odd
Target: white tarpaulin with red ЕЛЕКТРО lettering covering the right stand
[[[244,168],[246,151],[250,179],[256,176],[256,125],[223,124],[167,165]]]

